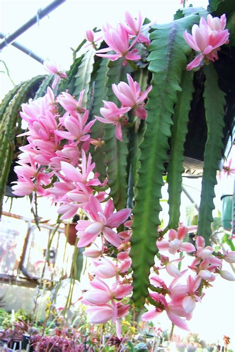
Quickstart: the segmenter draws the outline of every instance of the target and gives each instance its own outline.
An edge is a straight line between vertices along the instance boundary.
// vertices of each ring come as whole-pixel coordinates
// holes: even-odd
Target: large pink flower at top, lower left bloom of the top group
[[[137,42],[138,37],[129,45],[128,32],[122,24],[118,24],[116,28],[107,24],[103,27],[104,40],[108,44],[108,48],[96,51],[96,55],[100,57],[108,57],[111,61],[116,61],[119,57],[123,57],[123,65],[126,65],[127,60],[138,60],[140,55],[132,47]],[[116,51],[116,54],[103,54],[103,52]]]

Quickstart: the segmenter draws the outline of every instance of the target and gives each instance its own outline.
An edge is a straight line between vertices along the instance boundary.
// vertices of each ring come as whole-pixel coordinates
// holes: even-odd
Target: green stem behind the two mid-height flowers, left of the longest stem
[[[112,84],[118,84],[120,81],[126,82],[126,74],[130,72],[130,69],[128,66],[122,65],[122,59],[113,62],[110,61],[108,67],[107,100],[118,104],[117,97],[112,90]],[[111,188],[111,196],[113,197],[115,207],[119,210],[125,208],[127,202],[127,128],[122,127],[123,142],[117,140],[115,137],[115,126],[106,124],[104,129],[105,164],[107,165],[109,186]]]

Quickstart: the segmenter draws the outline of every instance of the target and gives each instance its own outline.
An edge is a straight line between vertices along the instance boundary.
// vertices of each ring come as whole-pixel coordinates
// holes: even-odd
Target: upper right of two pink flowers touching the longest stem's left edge
[[[122,103],[123,107],[131,107],[134,109],[133,114],[144,120],[147,117],[147,112],[144,108],[144,101],[151,91],[152,86],[149,86],[145,92],[141,92],[139,84],[133,81],[129,74],[127,74],[127,80],[128,84],[120,82],[118,85],[112,85],[114,94]]]

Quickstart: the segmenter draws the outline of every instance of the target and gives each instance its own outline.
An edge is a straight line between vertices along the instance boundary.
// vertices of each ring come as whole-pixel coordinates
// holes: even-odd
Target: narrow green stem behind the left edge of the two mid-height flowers
[[[108,71],[108,59],[103,59],[101,61],[100,67],[97,71],[95,80],[95,92],[94,92],[94,103],[92,108],[92,118],[95,115],[100,116],[100,108],[103,106],[103,100],[107,98],[107,71]],[[91,129],[91,137],[94,139],[103,139],[104,134],[104,124],[100,121],[96,121]],[[100,173],[99,179],[104,181],[106,178],[106,166],[104,163],[104,147],[98,147],[96,151],[92,146],[91,149],[92,160],[96,163],[94,169],[95,172]]]

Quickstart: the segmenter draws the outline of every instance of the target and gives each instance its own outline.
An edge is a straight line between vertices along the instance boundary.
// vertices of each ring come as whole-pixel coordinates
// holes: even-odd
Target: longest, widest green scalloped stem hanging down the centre
[[[148,117],[144,140],[140,145],[137,195],[133,209],[133,234],[131,251],[133,267],[133,300],[143,305],[148,295],[150,267],[157,252],[157,226],[160,224],[160,199],[171,136],[172,114],[181,90],[179,82],[186,67],[186,54],[190,48],[182,33],[198,21],[198,16],[187,16],[166,25],[155,25],[148,57],[149,71],[153,77],[152,91],[147,103]]]

